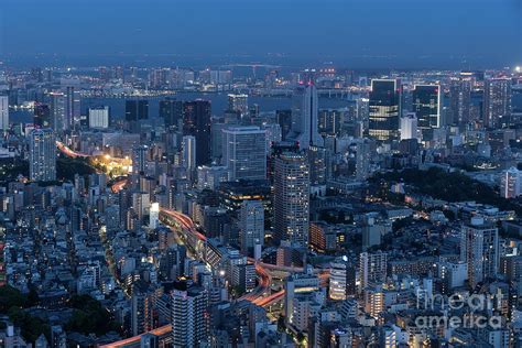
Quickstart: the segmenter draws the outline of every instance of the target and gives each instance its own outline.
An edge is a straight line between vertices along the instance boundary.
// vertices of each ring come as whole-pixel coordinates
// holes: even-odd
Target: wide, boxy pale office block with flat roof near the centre
[[[267,132],[259,127],[222,130],[222,165],[229,181],[267,178]]]

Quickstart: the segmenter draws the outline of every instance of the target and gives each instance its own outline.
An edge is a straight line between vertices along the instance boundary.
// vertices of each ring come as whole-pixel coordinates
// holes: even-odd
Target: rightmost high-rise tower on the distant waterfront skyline
[[[491,78],[483,85],[483,124],[507,127],[511,122],[511,79]]]

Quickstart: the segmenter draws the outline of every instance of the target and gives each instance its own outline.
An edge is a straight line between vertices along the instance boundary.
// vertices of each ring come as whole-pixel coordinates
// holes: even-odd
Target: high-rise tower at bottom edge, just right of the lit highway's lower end
[[[207,293],[203,287],[174,283],[171,293],[172,345],[200,347],[208,338]]]

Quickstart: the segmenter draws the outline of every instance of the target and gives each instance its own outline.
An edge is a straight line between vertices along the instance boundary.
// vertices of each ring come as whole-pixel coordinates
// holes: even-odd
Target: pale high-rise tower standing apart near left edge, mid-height
[[[52,129],[31,132],[29,143],[30,177],[35,182],[56,180],[56,140]]]

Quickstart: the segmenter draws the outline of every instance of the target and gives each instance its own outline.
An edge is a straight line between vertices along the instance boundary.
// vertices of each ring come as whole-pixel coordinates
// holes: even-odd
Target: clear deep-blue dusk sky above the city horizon
[[[402,65],[522,61],[522,0],[0,2],[0,55],[10,57],[283,53]]]

